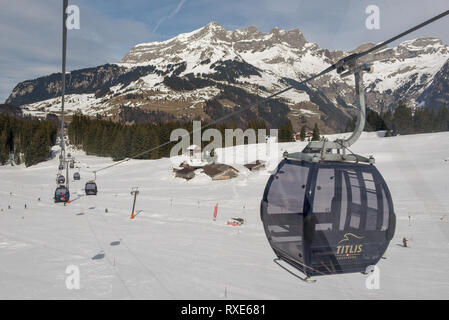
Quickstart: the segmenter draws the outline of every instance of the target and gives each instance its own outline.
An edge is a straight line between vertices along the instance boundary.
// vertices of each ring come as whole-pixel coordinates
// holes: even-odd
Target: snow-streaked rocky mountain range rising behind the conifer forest
[[[331,51],[308,42],[299,29],[230,31],[211,22],[166,41],[138,44],[118,63],[70,72],[66,110],[126,122],[211,121],[374,45]],[[374,69],[364,76],[367,106],[373,110],[394,109],[399,100],[411,108],[438,108],[449,100],[449,46],[439,39],[407,40],[363,62]],[[57,73],[23,81],[6,103],[36,116],[57,114],[61,84]],[[232,120],[263,118],[278,126],[288,118],[295,129],[318,123],[323,132],[333,133],[344,129],[354,103],[353,77],[333,72]]]

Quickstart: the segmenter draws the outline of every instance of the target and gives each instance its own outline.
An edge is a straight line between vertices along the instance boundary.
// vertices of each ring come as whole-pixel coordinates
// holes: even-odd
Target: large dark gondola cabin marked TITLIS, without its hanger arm
[[[374,165],[284,159],[261,218],[277,257],[308,277],[365,272],[395,230],[390,191]]]

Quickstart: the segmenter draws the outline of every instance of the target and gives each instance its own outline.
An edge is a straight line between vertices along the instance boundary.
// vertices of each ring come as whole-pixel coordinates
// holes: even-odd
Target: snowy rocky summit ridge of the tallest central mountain
[[[207,59],[211,63],[222,59],[238,60],[245,52],[263,52],[279,46],[299,50],[306,43],[299,29],[286,31],[273,28],[269,33],[262,33],[250,26],[229,31],[217,22],[210,22],[200,29],[163,42],[138,44],[121,63],[161,65],[185,61],[188,65],[197,65]]]

